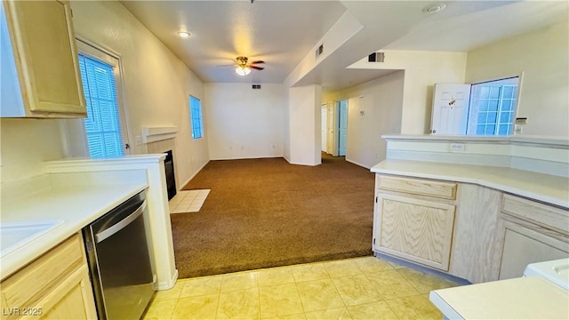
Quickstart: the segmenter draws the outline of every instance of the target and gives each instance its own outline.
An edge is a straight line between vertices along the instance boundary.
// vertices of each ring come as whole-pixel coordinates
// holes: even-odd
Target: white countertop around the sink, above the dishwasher
[[[63,223],[0,257],[1,277],[72,236],[104,213],[147,188],[143,182],[54,187],[15,201],[2,202],[2,223],[29,220],[63,220]]]

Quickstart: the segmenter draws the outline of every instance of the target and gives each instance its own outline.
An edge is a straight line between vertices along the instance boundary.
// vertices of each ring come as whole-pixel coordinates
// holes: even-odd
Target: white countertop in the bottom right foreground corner
[[[449,319],[569,319],[569,292],[540,276],[430,292]]]

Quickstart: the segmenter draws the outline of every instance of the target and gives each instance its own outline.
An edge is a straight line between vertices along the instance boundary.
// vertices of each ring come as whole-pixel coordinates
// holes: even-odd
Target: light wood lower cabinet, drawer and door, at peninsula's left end
[[[407,186],[409,194],[394,193],[390,187],[376,189],[373,250],[448,270],[456,207],[452,201],[433,197],[432,194],[442,191],[442,194],[453,197],[456,186],[382,175],[376,177],[376,185],[385,186],[386,180],[397,181],[397,190],[405,191]]]

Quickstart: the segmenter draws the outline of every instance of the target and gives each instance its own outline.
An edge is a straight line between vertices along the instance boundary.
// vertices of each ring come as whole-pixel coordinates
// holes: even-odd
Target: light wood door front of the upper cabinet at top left
[[[68,2],[4,3],[26,108],[37,113],[86,115]]]

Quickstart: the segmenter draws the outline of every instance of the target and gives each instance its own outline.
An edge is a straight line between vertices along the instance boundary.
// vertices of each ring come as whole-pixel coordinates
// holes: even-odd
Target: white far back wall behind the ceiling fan
[[[212,159],[283,156],[283,84],[205,84],[204,92]]]

